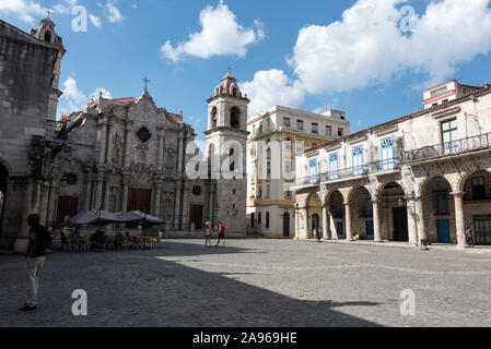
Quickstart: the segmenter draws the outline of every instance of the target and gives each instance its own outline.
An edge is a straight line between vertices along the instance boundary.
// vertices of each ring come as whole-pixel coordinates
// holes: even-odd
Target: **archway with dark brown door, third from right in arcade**
[[[383,231],[391,241],[409,242],[408,204],[406,194],[398,183],[384,186],[379,197],[383,202]]]

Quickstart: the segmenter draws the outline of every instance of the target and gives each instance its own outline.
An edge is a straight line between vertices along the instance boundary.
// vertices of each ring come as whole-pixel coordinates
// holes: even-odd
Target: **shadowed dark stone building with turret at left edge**
[[[27,237],[26,217],[44,210],[61,59],[55,23],[31,34],[0,21],[0,232]],[[24,241],[25,242],[25,241]]]

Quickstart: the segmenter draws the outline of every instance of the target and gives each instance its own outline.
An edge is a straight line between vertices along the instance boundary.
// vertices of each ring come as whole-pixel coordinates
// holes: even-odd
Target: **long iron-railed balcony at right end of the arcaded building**
[[[414,164],[424,160],[439,159],[447,156],[463,155],[472,152],[489,149],[491,133],[458,140],[449,143],[425,146],[416,151],[404,153],[405,164]]]

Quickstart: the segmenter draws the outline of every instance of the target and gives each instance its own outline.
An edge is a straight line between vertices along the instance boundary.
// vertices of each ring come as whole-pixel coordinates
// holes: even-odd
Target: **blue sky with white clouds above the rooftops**
[[[252,100],[347,112],[351,132],[422,109],[422,91],[491,83],[491,0],[1,0],[30,32],[52,12],[67,53],[59,113],[100,92],[184,112],[198,140],[231,69]],[[86,14],[86,15],[85,15]],[[86,17],[86,21],[84,20]],[[86,25],[85,25],[86,24]]]

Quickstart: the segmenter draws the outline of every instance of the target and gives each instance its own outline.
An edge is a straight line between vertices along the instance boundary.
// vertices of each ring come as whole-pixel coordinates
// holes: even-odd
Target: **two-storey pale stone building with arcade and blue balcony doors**
[[[328,142],[297,168],[296,237],[491,244],[491,86]],[[317,206],[320,203],[322,214]]]

